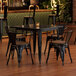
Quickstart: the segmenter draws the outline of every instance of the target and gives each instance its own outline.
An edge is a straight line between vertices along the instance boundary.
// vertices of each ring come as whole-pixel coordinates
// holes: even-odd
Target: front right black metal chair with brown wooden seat
[[[69,40],[70,40],[71,36],[72,36],[72,30],[68,31],[66,33],[66,40],[53,40],[52,42],[49,42],[49,49],[48,49],[48,55],[47,55],[46,63],[48,62],[50,49],[52,47],[54,47],[56,49],[57,60],[58,60],[58,56],[60,53],[63,65],[64,65],[64,51],[65,51],[65,48],[68,48],[69,57],[70,57],[70,60],[72,63],[72,58],[71,58],[70,48],[69,48]]]

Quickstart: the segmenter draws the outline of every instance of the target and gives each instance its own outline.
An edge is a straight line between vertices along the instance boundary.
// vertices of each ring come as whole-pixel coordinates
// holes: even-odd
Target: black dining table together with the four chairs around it
[[[54,45],[54,49],[57,50],[56,51],[57,59],[58,59],[58,56],[59,56],[59,53],[60,53],[62,64],[64,65],[64,53],[66,51],[65,48],[67,47],[68,52],[69,52],[69,57],[70,57],[70,60],[71,60],[71,63],[72,63],[72,58],[71,58],[69,43],[68,43],[68,41],[70,40],[72,31],[69,31],[67,33],[66,37],[69,36],[69,38],[67,37],[66,42],[64,41],[63,37],[62,37],[62,39],[59,39],[60,38],[59,37],[60,33],[62,33],[61,35],[63,35],[65,27],[66,27],[66,24],[58,24],[58,25],[53,25],[53,26],[48,24],[48,25],[46,25],[46,27],[44,27],[43,25],[40,25],[39,22],[36,22],[34,24],[27,24],[26,26],[25,25],[17,25],[17,26],[8,27],[8,25],[6,23],[5,30],[6,30],[6,33],[8,35],[8,38],[9,38],[7,51],[6,51],[6,56],[9,52],[8,59],[7,59],[7,65],[8,65],[8,62],[10,60],[10,55],[12,54],[12,52],[13,52],[12,59],[14,58],[14,50],[16,49],[17,50],[17,56],[18,56],[17,57],[18,58],[18,65],[20,66],[20,62],[21,62],[21,58],[22,58],[22,50],[25,48],[25,50],[28,54],[28,51],[27,51],[28,47],[29,47],[29,50],[30,50],[32,63],[34,63],[33,57],[32,57],[32,52],[31,52],[30,41],[29,41],[29,44],[27,44],[26,40],[25,40],[25,37],[26,37],[26,35],[28,35],[28,32],[33,37],[33,39],[32,39],[33,40],[33,55],[35,55],[35,53],[36,53],[36,42],[37,42],[36,41],[37,40],[36,35],[38,36],[38,44],[37,44],[38,45],[38,59],[39,59],[39,64],[41,64],[41,60],[42,60],[42,57],[41,57],[42,56],[42,40],[43,40],[42,35],[43,35],[43,32],[45,32],[45,34],[47,35],[48,32],[51,32],[51,31],[53,32],[53,35],[55,34],[55,31],[56,31],[56,36],[57,36],[55,39],[54,39],[54,37],[52,37],[52,40],[60,40],[59,41],[60,43],[59,42],[53,43],[52,40],[50,41],[46,63],[48,62],[48,59],[49,59],[50,49],[52,48],[51,46],[53,46],[54,44],[56,44],[56,45]],[[15,32],[11,32],[10,28],[15,30]],[[62,30],[63,30],[63,32],[62,32]],[[22,37],[21,37],[22,39],[16,38],[16,34],[18,34],[17,31],[22,31],[21,34],[25,34],[24,38],[22,38]],[[47,36],[47,38],[48,38],[48,36]],[[49,37],[49,38],[51,39],[51,37]],[[16,43],[16,39],[20,42]],[[0,40],[2,40],[2,38]],[[46,43],[47,43],[47,40],[46,40]],[[10,45],[11,45],[11,47],[9,47]],[[46,47],[47,46],[45,46],[45,48]],[[57,48],[55,48],[55,47],[57,47]],[[9,48],[10,48],[10,50],[9,50]],[[46,52],[46,50],[44,52]]]

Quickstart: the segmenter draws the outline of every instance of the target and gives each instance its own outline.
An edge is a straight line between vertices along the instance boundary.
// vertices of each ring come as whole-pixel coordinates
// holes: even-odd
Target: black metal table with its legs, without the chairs
[[[62,26],[48,26],[47,27],[39,27],[33,24],[30,24],[29,26],[11,26],[10,28],[17,30],[22,30],[22,31],[30,31],[33,33],[33,54],[35,55],[36,52],[36,34],[38,34],[38,58],[39,58],[39,63],[41,64],[41,53],[42,53],[42,33],[43,32],[48,32],[52,30],[57,30]]]

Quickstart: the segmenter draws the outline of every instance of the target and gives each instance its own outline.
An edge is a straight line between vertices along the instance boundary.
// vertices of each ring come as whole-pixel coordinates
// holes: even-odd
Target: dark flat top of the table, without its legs
[[[47,25],[48,26],[48,25]],[[55,30],[58,29],[59,27],[62,26],[48,26],[48,27],[26,27],[26,26],[12,26],[10,28],[15,28],[16,30],[31,30],[31,31],[51,31],[51,30]]]

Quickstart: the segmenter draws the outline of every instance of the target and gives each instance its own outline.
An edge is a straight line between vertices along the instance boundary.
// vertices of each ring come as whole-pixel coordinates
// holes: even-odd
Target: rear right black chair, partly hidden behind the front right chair
[[[44,54],[46,53],[46,48],[47,48],[47,43],[48,43],[48,41],[60,40],[60,39],[63,40],[63,39],[64,39],[63,33],[64,33],[65,25],[64,25],[64,24],[61,24],[60,26],[62,26],[62,27],[60,27],[60,28],[57,30],[57,33],[56,33],[56,34],[53,34],[53,35],[51,35],[51,36],[49,36],[49,35],[47,34]]]

